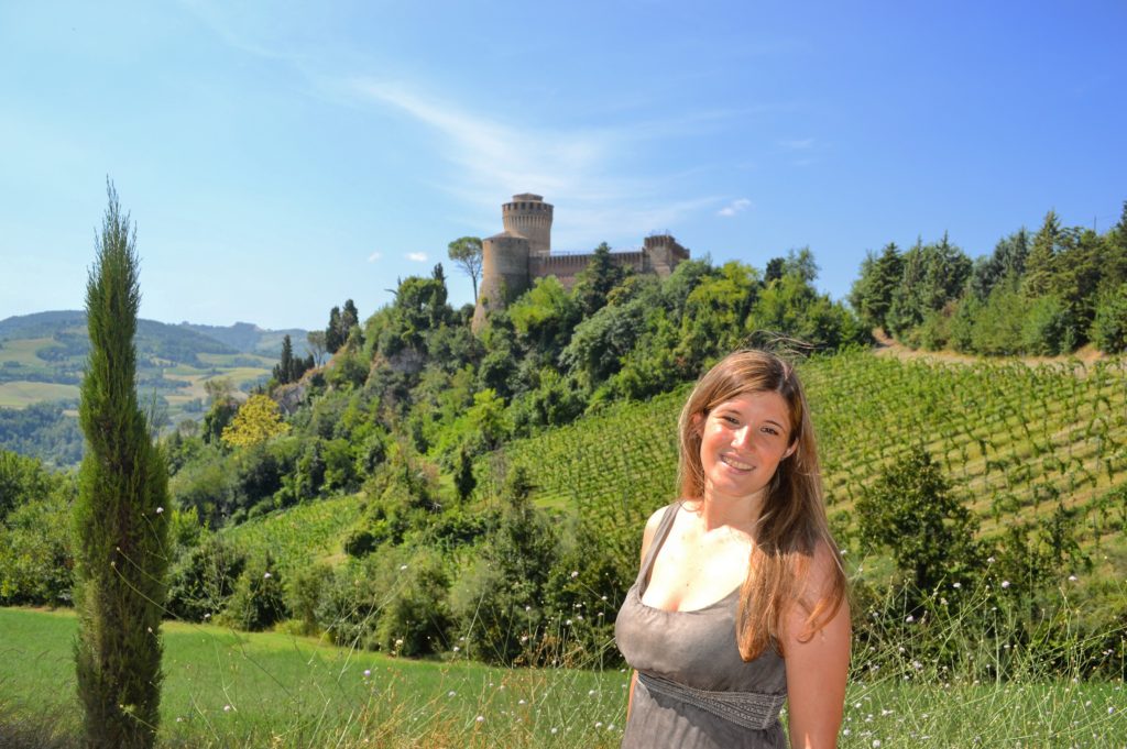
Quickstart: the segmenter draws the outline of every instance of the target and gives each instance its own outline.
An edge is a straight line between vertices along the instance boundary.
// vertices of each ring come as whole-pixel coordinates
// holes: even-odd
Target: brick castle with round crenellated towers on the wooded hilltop
[[[514,195],[512,203],[502,205],[500,213],[505,231],[481,242],[481,287],[473,311],[474,330],[481,328],[491,310],[504,307],[531,288],[535,278],[556,276],[570,289],[593,255],[552,255],[552,205],[540,195]],[[669,234],[647,237],[641,250],[611,255],[616,266],[663,278],[687,259],[689,250]]]

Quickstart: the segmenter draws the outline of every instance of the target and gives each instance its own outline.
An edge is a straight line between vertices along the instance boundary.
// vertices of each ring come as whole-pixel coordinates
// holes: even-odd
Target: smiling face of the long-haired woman
[[[748,497],[771,481],[795,451],[790,409],[774,391],[744,393],[712,409],[702,421],[704,493]]]

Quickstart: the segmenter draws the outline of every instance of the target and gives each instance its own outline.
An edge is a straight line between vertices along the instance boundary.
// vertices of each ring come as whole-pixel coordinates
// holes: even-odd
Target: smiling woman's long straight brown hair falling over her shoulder
[[[791,444],[796,449],[779,463],[763,498],[753,530],[747,578],[740,591],[736,637],[745,660],[769,645],[782,653],[781,623],[792,604],[806,612],[807,641],[834,617],[845,600],[845,572],[841,554],[829,534],[822,490],[814,425],[802,384],[788,362],[760,350],[729,354],[696,383],[681,410],[678,421],[681,496],[704,497],[700,422],[717,405],[745,393],[775,392],[790,412]],[[811,600],[807,578],[815,550],[823,546],[833,556],[828,585]]]

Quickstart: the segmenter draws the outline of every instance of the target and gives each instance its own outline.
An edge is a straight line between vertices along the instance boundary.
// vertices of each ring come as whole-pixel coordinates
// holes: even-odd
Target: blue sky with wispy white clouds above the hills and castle
[[[105,179],[141,313],[366,316],[500,204],[552,246],[672,232],[762,268],[809,246],[968,255],[1127,199],[1127,3],[3,2],[0,319],[80,309]]]

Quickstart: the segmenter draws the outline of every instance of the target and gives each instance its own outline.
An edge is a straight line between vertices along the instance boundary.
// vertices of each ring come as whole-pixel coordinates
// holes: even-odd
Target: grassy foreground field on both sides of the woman
[[[50,719],[45,733],[77,731],[74,628],[69,613],[0,609],[0,735],[6,722],[36,716]],[[163,634],[162,747],[597,748],[621,740],[628,675],[616,669],[489,668],[453,654],[409,661],[179,623],[166,623]],[[841,746],[1127,747],[1121,683],[1041,680],[1036,654],[1029,660],[1023,677],[982,684],[911,654],[879,672],[857,653]]]

